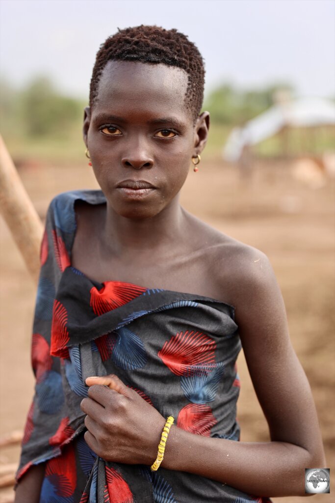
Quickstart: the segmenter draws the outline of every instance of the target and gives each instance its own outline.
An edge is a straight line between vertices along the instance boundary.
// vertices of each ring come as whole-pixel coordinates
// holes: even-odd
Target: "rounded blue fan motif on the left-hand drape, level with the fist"
[[[38,407],[46,414],[59,412],[64,403],[62,377],[53,370],[47,371],[43,380],[36,384]]]

